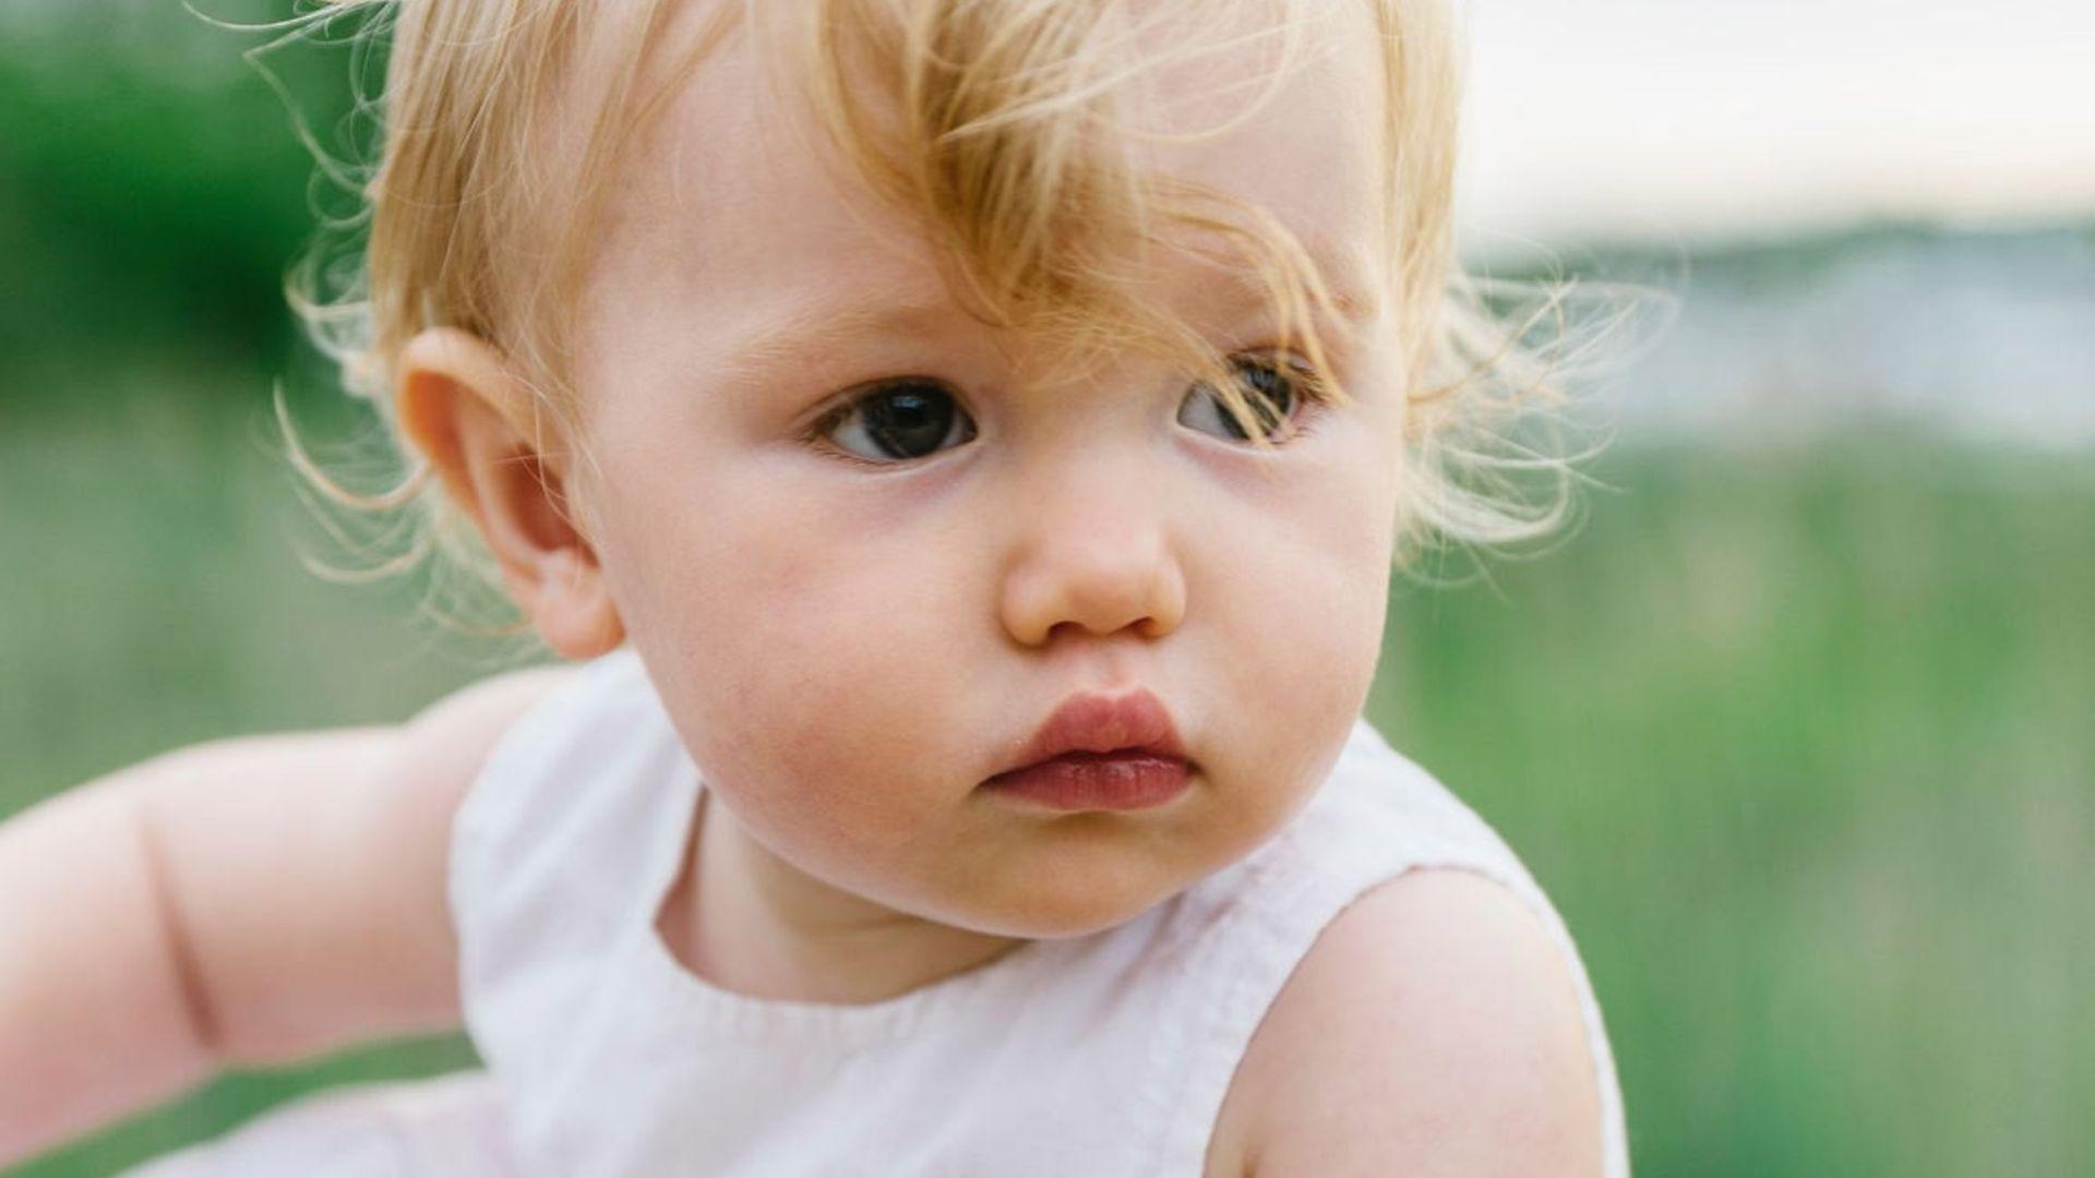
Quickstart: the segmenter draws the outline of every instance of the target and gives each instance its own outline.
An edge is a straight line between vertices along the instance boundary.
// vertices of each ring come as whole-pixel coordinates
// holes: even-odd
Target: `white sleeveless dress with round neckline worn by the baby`
[[[327,1092],[134,1178],[1198,1176],[1238,1059],[1316,935],[1408,868],[1481,872],[1578,983],[1605,1174],[1615,1063],[1557,910],[1467,805],[1358,721],[1247,859],[1087,937],[867,1006],[765,1000],[654,929],[700,776],[622,648],[494,746],[453,830],[465,1023],[486,1071]]]

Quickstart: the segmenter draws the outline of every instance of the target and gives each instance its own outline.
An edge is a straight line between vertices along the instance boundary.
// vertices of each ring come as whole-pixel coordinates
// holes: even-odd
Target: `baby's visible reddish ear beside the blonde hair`
[[[400,350],[394,411],[450,499],[480,526],[503,585],[547,646],[595,658],[624,641],[597,549],[568,497],[570,455],[488,342],[432,327]]]

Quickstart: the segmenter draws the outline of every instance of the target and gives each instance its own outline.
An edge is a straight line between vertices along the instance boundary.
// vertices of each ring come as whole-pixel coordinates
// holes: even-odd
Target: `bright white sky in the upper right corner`
[[[1469,0],[1483,237],[2095,216],[2095,0]]]

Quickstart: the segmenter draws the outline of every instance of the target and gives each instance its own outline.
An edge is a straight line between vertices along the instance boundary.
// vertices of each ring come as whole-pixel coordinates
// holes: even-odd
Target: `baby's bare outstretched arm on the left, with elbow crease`
[[[457,1025],[450,815],[570,673],[199,744],[0,826],[0,1165],[226,1063]]]

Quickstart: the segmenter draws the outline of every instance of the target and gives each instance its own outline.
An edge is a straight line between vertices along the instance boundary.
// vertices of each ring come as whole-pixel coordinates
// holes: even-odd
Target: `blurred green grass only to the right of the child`
[[[1502,599],[1399,602],[1379,700],[1580,935],[1638,1165],[2095,1172],[2095,463],[1601,474]]]

